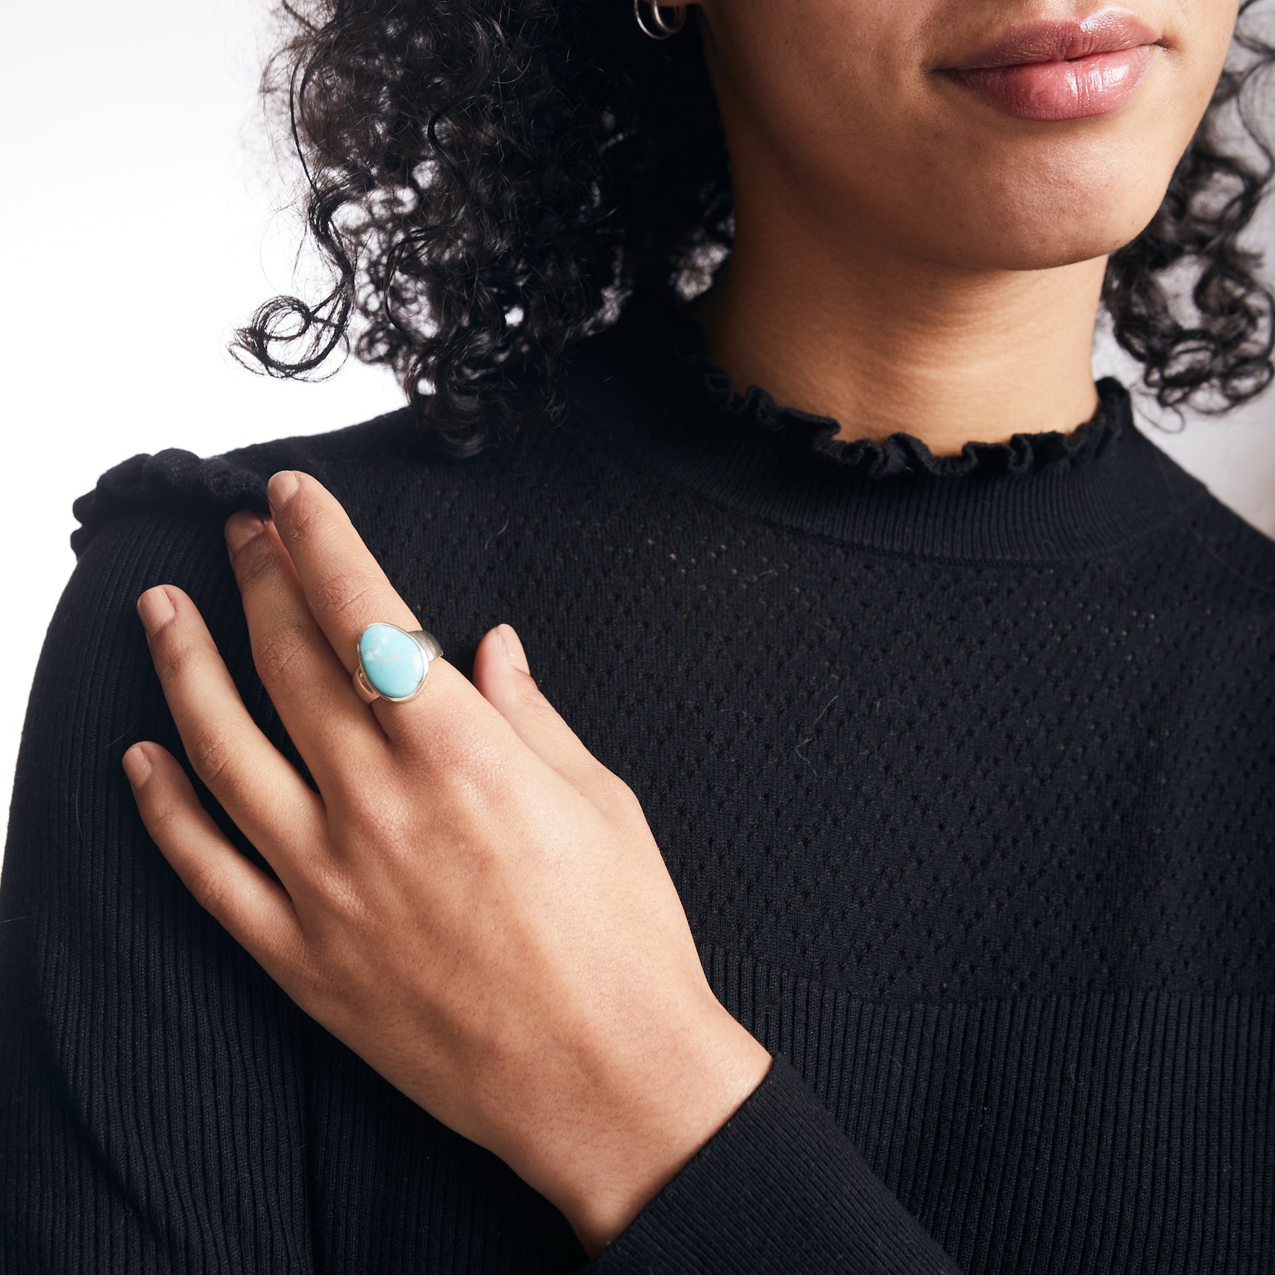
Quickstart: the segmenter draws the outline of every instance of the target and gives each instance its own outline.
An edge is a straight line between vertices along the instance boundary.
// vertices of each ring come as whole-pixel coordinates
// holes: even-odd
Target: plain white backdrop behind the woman
[[[5,17],[5,815],[36,658],[74,566],[71,501],[138,451],[210,455],[402,403],[389,374],[353,361],[307,385],[224,352],[231,326],[293,283],[297,229],[273,210],[255,97],[269,31],[266,0],[64,0]],[[1275,273],[1275,209],[1255,241]],[[1100,344],[1104,371],[1135,380]],[[1150,419],[1156,442],[1275,536],[1275,393],[1169,439]]]

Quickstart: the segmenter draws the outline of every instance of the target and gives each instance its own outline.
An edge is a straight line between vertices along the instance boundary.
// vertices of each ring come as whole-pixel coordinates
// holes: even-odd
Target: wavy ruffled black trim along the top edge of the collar
[[[915,435],[891,433],[873,439],[838,439],[838,421],[784,407],[757,385],[737,390],[727,371],[708,352],[708,335],[683,309],[639,296],[631,317],[663,332],[668,354],[685,375],[687,388],[706,407],[736,427],[790,435],[801,446],[848,473],[864,478],[907,476],[961,478],[972,474],[1026,474],[1049,465],[1084,464],[1105,451],[1128,421],[1128,391],[1114,377],[1096,382],[1099,405],[1094,416],[1070,432],[1048,430],[1015,433],[1007,442],[966,442],[955,455],[935,455]]]

